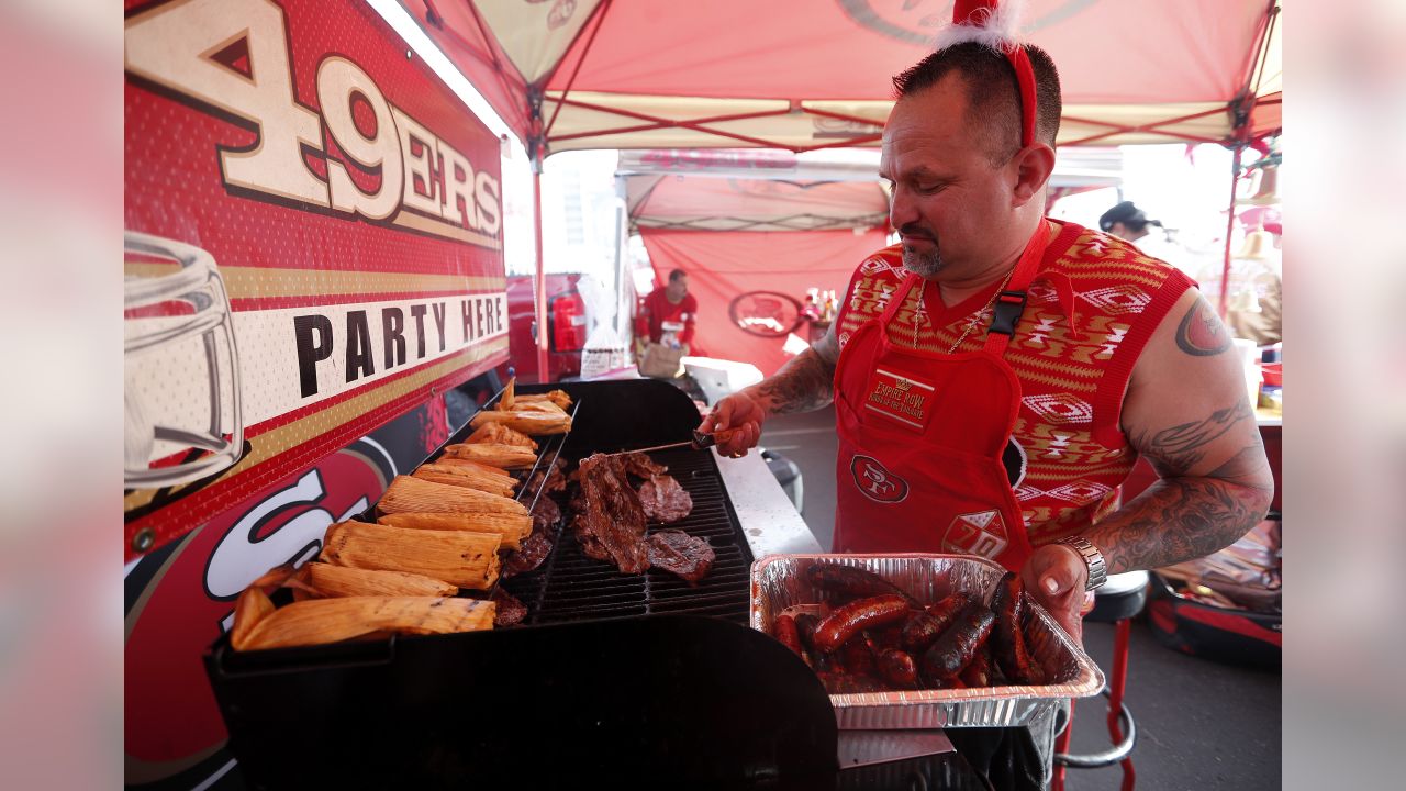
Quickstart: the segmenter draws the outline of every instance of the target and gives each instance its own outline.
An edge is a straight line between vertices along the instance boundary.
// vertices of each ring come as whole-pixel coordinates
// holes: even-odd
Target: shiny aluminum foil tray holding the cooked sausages
[[[818,604],[828,594],[801,571],[814,560],[859,566],[908,591],[924,605],[966,591],[990,601],[1001,566],[957,555],[772,555],[752,563],[752,628],[769,632],[772,618],[794,604]],[[1031,650],[1056,683],[966,690],[907,690],[830,695],[845,730],[905,728],[1005,728],[1036,725],[1054,715],[1066,698],[1087,698],[1104,688],[1104,673],[1038,604],[1025,608]],[[1032,622],[1033,621],[1033,622]]]

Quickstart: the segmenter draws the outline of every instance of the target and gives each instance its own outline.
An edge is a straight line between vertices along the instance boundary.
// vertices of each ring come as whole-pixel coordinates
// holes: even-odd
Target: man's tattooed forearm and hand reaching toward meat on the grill
[[[838,324],[838,322],[837,322]],[[835,324],[810,349],[782,366],[772,376],[718,401],[700,426],[703,431],[738,429],[718,445],[725,456],[741,456],[762,436],[762,421],[768,415],[808,412],[834,400],[835,363],[839,342]]]

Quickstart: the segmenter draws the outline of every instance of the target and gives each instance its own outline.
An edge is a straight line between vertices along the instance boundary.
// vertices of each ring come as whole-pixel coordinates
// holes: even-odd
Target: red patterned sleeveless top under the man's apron
[[[841,348],[883,314],[907,274],[901,245],[859,265],[835,324]],[[1128,379],[1152,332],[1191,286],[1177,269],[1116,236],[1066,224],[1050,243],[1005,352],[1021,380],[1011,436],[1021,457],[1014,490],[1032,545],[1081,532],[1116,507],[1118,487],[1137,460],[1119,426]],[[890,322],[891,342],[948,353],[974,324],[956,350],[981,348],[990,307],[965,314],[945,308],[929,287],[918,310],[918,291],[910,290]]]

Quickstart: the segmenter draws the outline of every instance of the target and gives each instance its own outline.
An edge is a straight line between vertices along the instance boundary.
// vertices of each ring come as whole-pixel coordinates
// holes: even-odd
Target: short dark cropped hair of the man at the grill
[[[1059,70],[1043,49],[1024,46],[1035,72],[1035,139],[1053,148],[1063,111]],[[991,162],[1008,162],[1021,148],[1021,93],[1001,49],[981,41],[939,49],[893,77],[894,99],[922,93],[950,73],[960,75],[966,86],[967,122],[980,129]]]

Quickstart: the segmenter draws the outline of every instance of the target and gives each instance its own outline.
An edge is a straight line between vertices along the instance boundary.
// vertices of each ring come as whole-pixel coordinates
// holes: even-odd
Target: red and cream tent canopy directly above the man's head
[[[952,0],[401,0],[523,139],[546,151],[877,145],[890,77],[928,51]],[[1031,0],[1025,31],[1060,68],[1060,142],[1227,141],[1260,97],[1279,125],[1274,0]],[[1272,35],[1261,46],[1265,28]],[[534,127],[530,94],[541,94]]]

